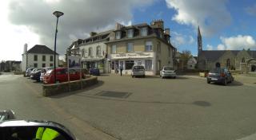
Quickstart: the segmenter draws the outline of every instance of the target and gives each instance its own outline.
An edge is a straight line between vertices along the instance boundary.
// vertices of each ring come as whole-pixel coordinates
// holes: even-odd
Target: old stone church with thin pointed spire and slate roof
[[[242,73],[256,72],[255,50],[202,50],[202,36],[198,27],[198,69],[228,68]]]

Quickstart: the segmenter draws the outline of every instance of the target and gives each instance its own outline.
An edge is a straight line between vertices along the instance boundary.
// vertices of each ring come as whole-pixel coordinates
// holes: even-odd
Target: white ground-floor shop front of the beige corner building
[[[143,65],[146,69],[146,75],[156,74],[156,60],[154,52],[134,52],[110,55],[110,72],[120,73],[120,67],[123,68],[124,75],[130,75],[134,65]]]

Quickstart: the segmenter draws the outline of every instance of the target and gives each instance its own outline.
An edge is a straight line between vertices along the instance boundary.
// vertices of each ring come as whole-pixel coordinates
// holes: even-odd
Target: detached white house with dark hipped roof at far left
[[[22,54],[22,71],[26,68],[45,68],[54,67],[54,51],[46,45],[34,45],[33,48],[26,51],[27,45],[24,45]],[[58,67],[58,53],[56,55],[56,67]]]

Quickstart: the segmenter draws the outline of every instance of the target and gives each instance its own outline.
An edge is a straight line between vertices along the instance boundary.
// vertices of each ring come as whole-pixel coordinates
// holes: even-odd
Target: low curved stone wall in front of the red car
[[[91,76],[90,78],[86,78],[82,81],[75,80],[61,83],[61,84],[43,84],[42,85],[42,95],[50,96],[50,95],[58,95],[64,92],[76,91],[82,88],[88,88],[94,84],[98,83],[97,76]]]

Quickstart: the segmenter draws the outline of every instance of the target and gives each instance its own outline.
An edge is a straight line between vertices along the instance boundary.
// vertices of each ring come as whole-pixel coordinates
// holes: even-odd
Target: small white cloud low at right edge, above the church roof
[[[226,49],[256,49],[256,42],[253,37],[238,35],[237,37],[220,37]]]

